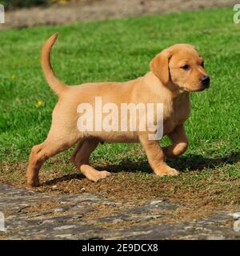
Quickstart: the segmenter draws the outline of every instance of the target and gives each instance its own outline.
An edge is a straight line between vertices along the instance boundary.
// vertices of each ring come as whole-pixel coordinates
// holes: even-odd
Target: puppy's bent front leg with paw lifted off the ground
[[[184,126],[177,126],[170,134],[167,135],[173,142],[172,145],[163,147],[163,153],[166,158],[176,158],[183,154],[188,146]]]

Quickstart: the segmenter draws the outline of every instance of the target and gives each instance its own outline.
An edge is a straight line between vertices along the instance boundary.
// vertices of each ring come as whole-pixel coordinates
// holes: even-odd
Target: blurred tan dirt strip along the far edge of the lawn
[[[234,6],[235,3],[234,0],[82,0],[65,5],[7,12],[6,24],[0,25],[0,29],[166,14],[182,10]]]

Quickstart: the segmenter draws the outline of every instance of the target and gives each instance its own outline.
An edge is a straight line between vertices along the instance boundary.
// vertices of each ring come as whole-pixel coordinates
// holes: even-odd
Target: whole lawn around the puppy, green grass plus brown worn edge
[[[170,198],[194,206],[240,203],[240,25],[227,8],[191,13],[82,22],[0,32],[0,181],[25,185],[31,147],[46,138],[57,98],[39,61],[43,43],[58,31],[54,70],[67,84],[125,81],[149,70],[150,59],[174,43],[194,44],[205,58],[210,90],[192,94],[186,122],[190,146],[168,161],[181,170],[175,178],[151,173],[138,144],[98,146],[94,166],[114,174],[98,183],[82,178],[70,150],[42,167],[38,190],[87,191],[123,199]],[[36,107],[38,102],[41,107]],[[169,141],[162,139],[161,144]]]

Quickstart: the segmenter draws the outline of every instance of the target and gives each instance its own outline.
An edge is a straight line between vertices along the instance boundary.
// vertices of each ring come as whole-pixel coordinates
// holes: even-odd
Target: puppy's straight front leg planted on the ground
[[[175,176],[179,174],[178,170],[171,168],[164,162],[164,154],[158,141],[148,140],[146,135],[140,136],[139,140],[146,151],[148,162],[155,174],[158,176]]]

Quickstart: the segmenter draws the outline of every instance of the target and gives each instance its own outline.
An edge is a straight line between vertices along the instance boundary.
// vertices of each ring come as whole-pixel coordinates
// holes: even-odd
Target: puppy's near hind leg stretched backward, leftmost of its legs
[[[30,153],[29,165],[26,171],[27,186],[39,186],[38,173],[46,160],[59,152],[67,150],[77,141],[69,134],[49,134],[46,141],[34,146]]]

